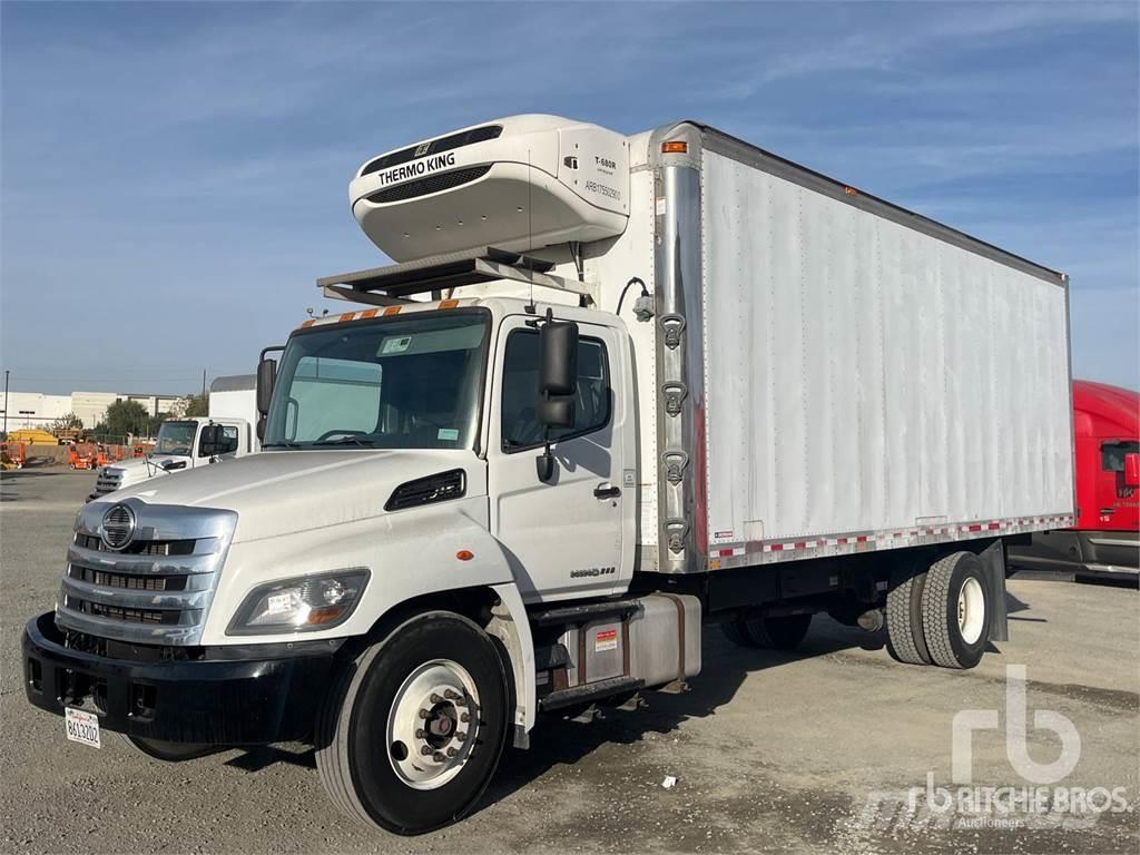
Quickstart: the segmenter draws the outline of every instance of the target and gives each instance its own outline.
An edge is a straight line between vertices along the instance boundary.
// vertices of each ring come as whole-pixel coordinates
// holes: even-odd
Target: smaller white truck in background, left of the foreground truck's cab
[[[254,430],[258,423],[255,382],[253,374],[217,377],[210,384],[209,416],[163,422],[148,455],[108,464],[96,473],[95,492],[88,496],[88,502],[157,475],[255,453],[260,447]],[[212,425],[217,425],[220,433],[217,442],[206,437]],[[207,446],[211,454],[205,453]]]

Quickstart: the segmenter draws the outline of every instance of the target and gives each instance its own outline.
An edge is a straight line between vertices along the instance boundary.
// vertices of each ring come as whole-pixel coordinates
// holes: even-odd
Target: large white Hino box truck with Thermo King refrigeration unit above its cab
[[[23,640],[70,739],[310,740],[347,814],[422,832],[709,626],[972,667],[1004,544],[1072,522],[1064,275],[694,122],[489,122],[350,204],[398,263],[262,359],[263,453],[80,514]]]

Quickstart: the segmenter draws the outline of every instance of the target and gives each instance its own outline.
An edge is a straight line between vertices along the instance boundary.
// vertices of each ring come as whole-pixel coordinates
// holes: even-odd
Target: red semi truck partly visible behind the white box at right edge
[[[1140,576],[1140,393],[1073,381],[1076,526],[1011,546],[1009,563],[1077,580]]]

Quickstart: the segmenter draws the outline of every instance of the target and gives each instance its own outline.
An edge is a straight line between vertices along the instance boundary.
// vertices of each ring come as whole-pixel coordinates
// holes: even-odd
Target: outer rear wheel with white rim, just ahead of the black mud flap
[[[922,628],[930,658],[943,668],[972,668],[990,641],[993,604],[980,559],[955,552],[930,565],[922,592]]]

